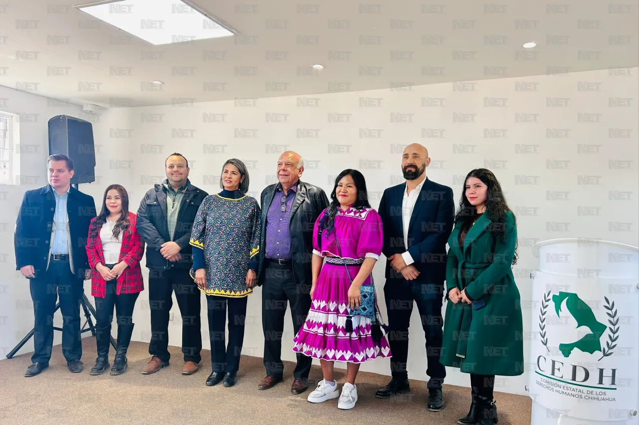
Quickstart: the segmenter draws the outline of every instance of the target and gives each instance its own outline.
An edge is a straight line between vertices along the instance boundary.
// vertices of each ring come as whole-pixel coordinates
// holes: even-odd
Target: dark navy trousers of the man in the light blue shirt
[[[62,354],[67,362],[82,357],[80,336],[80,300],[84,276],[76,277],[71,272],[68,260],[50,260],[49,269],[41,278],[29,280],[35,331],[32,362],[49,363],[53,348],[53,315],[59,297],[62,313]]]

